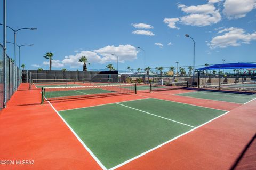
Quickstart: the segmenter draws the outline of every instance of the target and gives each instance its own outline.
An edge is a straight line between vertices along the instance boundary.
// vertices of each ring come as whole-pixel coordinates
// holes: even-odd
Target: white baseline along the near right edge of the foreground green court
[[[182,133],[181,135],[176,136],[176,137],[174,137],[173,139],[170,139],[169,141],[166,141],[166,142],[164,142],[164,143],[162,143],[162,144],[159,144],[159,145],[156,146],[155,148],[152,148],[152,149],[150,149],[150,150],[148,150],[148,151],[146,151],[146,152],[141,153],[141,154],[138,155],[138,156],[135,156],[135,157],[133,157],[133,158],[131,158],[131,159],[129,159],[129,160],[126,160],[126,161],[124,161],[123,163],[121,163],[121,164],[119,164],[119,165],[117,165],[117,166],[115,166],[115,167],[113,167],[113,168],[110,168],[109,170],[114,170],[114,169],[117,169],[117,168],[119,168],[119,167],[121,167],[121,166],[123,166],[123,165],[125,165],[125,164],[128,164],[128,163],[130,163],[131,161],[133,161],[133,160],[135,160],[135,159],[138,159],[139,157],[142,157],[142,156],[146,155],[147,153],[149,153],[149,152],[151,152],[151,151],[153,151],[153,150],[156,150],[156,149],[162,147],[163,145],[165,145],[165,144],[167,144],[167,143],[170,143],[171,141],[174,141],[174,140],[178,139],[178,138],[181,137],[181,136],[184,136],[184,135],[186,135],[186,134],[188,134],[188,133],[190,133],[190,132],[192,132],[192,131],[195,131],[195,129],[197,129],[197,128],[199,128],[199,127],[202,127],[202,126],[204,126],[204,125],[206,125],[206,124],[212,122],[213,120],[215,120],[215,119],[217,119],[217,118],[219,118],[219,117],[221,117],[221,116],[223,116],[223,115],[226,115],[226,114],[228,114],[228,113],[229,113],[229,111],[225,112],[224,114],[222,114],[222,115],[220,115],[220,116],[218,116],[218,117],[215,117],[215,118],[213,118],[213,119],[211,119],[211,120],[205,122],[205,123],[202,124],[202,125],[197,126],[196,128],[193,128],[193,129],[191,129],[191,130],[189,130],[189,131],[187,131],[187,132],[185,132],[185,133]]]

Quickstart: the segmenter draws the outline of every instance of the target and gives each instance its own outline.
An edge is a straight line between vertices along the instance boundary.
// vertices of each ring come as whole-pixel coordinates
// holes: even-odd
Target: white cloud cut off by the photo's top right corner
[[[256,0],[226,0],[223,13],[229,19],[245,17],[246,14],[256,8]]]

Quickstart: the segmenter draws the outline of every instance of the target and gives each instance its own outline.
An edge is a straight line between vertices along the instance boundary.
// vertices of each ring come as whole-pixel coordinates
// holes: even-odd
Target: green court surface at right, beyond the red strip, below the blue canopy
[[[210,99],[225,102],[234,102],[243,104],[256,98],[256,94],[235,94],[235,93],[223,93],[223,92],[210,92],[210,91],[195,91],[182,94],[175,94],[180,96],[187,96],[200,99]]]

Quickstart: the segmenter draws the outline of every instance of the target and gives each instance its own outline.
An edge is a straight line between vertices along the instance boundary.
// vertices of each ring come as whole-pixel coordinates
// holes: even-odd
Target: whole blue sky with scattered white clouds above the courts
[[[1,11],[3,0],[0,0]],[[102,69],[119,56],[119,69],[170,67],[256,61],[256,0],[210,1],[7,1],[7,25],[21,30],[17,44],[26,69],[47,70],[45,52],[54,53],[53,68],[82,70],[79,56],[87,56],[89,69]],[[3,14],[0,13],[3,23]],[[3,28],[0,28],[2,33]],[[0,34],[1,43],[3,35]],[[7,30],[7,41],[13,32]],[[169,45],[168,45],[169,44]],[[18,51],[17,51],[18,53]],[[14,58],[13,45],[7,54]],[[18,55],[17,55],[18,56]],[[18,61],[18,58],[17,58]]]

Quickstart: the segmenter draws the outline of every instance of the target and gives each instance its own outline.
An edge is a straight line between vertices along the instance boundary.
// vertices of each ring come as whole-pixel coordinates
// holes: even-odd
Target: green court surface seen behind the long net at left
[[[60,91],[45,92],[45,98],[58,98],[58,97],[65,97],[65,96],[101,94],[101,93],[112,93],[112,92],[115,92],[115,91],[104,90],[101,88],[63,90],[63,91],[60,90]]]

